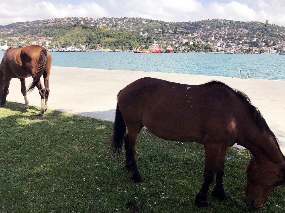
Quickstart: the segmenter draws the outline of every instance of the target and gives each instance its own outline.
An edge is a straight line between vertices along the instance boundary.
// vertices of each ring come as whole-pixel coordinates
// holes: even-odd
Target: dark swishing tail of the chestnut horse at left
[[[27,92],[31,92],[36,87],[36,85],[38,85],[38,82],[40,81],[40,77],[42,76],[46,68],[46,61],[48,59],[47,55],[48,55],[47,50],[43,48],[40,51],[40,55],[38,57],[38,63],[36,65],[36,69],[34,72],[35,73],[34,80],[30,84]]]

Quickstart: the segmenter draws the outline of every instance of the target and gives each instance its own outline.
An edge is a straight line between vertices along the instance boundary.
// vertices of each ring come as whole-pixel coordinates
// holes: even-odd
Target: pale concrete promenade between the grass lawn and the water
[[[48,107],[49,109],[114,121],[118,91],[142,77],[161,78],[183,84],[202,84],[210,80],[219,80],[245,92],[280,140],[280,147],[285,153],[285,81],[52,67]],[[27,87],[31,80],[32,78],[26,79]],[[7,100],[24,103],[19,79],[12,79],[9,91]],[[27,98],[30,102],[29,105],[40,106],[40,95],[37,89],[28,94]]]

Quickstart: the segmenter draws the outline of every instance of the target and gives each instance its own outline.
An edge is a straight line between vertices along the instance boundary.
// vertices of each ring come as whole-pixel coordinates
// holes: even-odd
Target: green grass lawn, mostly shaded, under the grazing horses
[[[166,141],[143,129],[137,162],[144,179],[133,183],[111,156],[113,123],[7,102],[0,108],[0,212],[205,212],[194,199],[203,180],[197,143]],[[228,158],[231,157],[231,160]],[[224,185],[230,201],[208,201],[211,212],[248,212],[243,203],[248,152],[229,148]],[[276,188],[259,212],[284,212]]]

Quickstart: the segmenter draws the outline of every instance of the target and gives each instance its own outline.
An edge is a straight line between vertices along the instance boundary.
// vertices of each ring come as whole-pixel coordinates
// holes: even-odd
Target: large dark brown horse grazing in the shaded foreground
[[[249,97],[218,81],[186,85],[141,78],[118,94],[112,139],[113,154],[125,140],[125,167],[133,181],[142,182],[135,158],[137,136],[143,127],[157,137],[198,142],[205,148],[204,182],[196,204],[209,209],[207,194],[216,174],[213,197],[227,200],[223,174],[227,148],[238,143],[252,154],[247,166],[244,201],[260,208],[274,187],[285,184],[285,157],[264,118]],[[126,127],[128,134],[125,136]]]

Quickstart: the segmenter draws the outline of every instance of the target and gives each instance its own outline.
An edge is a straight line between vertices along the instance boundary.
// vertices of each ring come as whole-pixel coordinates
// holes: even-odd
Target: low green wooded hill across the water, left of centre
[[[54,25],[21,28],[7,34],[7,36],[53,36],[53,43],[57,46],[86,44],[94,49],[97,44],[111,49],[133,49],[137,45],[149,46],[151,36],[139,36],[133,32],[109,30],[98,27],[81,25]]]

